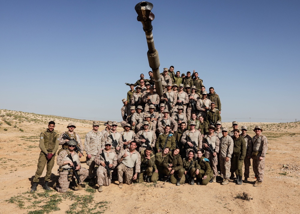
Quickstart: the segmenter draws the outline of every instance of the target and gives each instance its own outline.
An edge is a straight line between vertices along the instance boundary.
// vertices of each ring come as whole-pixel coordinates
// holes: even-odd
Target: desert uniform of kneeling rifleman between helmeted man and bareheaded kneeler
[[[110,164],[113,165],[113,167],[111,169],[114,169],[117,166],[117,159],[118,159],[117,154],[113,150],[110,150],[110,152],[107,152],[104,149],[103,151],[104,151],[106,161],[110,162]],[[111,177],[108,178],[106,168],[104,168],[101,165],[101,161],[104,162],[104,158],[101,155],[101,153],[102,153],[102,151],[99,151],[94,159],[96,164],[99,165],[99,167],[97,169],[97,178],[98,178],[97,183],[99,186],[109,186],[112,181],[112,178]],[[110,172],[110,176],[112,176],[112,172]]]

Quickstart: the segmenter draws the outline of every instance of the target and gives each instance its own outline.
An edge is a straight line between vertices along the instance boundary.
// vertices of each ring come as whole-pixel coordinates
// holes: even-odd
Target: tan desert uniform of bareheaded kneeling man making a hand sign
[[[121,162],[122,156],[128,153],[128,156],[123,158]],[[130,185],[132,183],[132,177],[134,173],[139,173],[141,171],[141,155],[137,150],[131,154],[129,149],[123,150],[118,156],[118,180],[119,183],[123,182],[123,174],[125,173],[125,183]]]

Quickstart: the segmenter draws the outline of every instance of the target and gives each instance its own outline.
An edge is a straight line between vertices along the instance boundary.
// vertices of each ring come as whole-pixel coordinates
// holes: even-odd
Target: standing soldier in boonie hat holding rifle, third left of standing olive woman
[[[217,164],[218,158],[217,153],[219,153],[220,140],[218,137],[214,136],[214,131],[216,128],[212,125],[208,126],[208,135],[203,138],[203,149],[205,150],[204,157],[210,162],[211,169],[214,172],[214,177],[209,182],[216,182],[216,177],[218,175]],[[211,145],[210,145],[211,144]],[[211,150],[209,150],[209,147]]]

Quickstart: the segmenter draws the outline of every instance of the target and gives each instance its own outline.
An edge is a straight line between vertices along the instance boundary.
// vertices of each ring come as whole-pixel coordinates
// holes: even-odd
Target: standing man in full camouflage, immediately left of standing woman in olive
[[[233,152],[233,140],[228,135],[227,128],[222,128],[223,137],[220,138],[220,176],[223,177],[221,185],[229,184],[231,155]]]

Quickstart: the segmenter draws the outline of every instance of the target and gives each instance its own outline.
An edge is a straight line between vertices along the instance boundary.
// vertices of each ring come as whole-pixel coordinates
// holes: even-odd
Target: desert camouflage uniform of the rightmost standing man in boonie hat
[[[258,138],[258,139],[256,139]],[[258,137],[254,136],[252,142],[249,145],[249,153],[252,155],[253,159],[253,172],[258,181],[263,182],[264,170],[265,170],[265,154],[268,150],[268,140],[267,138],[260,134]],[[258,152],[255,156],[253,152]],[[262,160],[259,160],[262,157]]]

